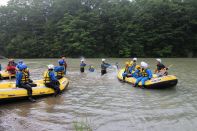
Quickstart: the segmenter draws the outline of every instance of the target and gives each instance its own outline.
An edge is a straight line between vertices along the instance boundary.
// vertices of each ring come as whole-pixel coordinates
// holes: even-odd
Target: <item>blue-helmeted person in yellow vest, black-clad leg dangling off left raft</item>
[[[16,73],[16,86],[19,88],[24,88],[27,90],[28,99],[31,102],[35,102],[36,100],[32,98],[32,86],[31,83],[29,83],[29,77],[28,74],[25,72],[25,65],[20,65],[19,71]]]

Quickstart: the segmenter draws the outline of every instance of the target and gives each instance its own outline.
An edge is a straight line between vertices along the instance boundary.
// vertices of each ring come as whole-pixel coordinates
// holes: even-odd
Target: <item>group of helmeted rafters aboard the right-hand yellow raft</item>
[[[162,64],[161,59],[156,59],[157,61],[157,68],[155,70],[155,74],[157,74],[158,77],[167,75],[168,68],[165,67],[164,64]],[[138,86],[139,82],[142,82],[142,87],[145,86],[145,82],[147,80],[150,80],[153,77],[152,71],[148,68],[148,64],[144,61],[140,63],[140,65],[137,65],[137,58],[133,58],[131,62],[125,63],[125,70],[122,74],[123,81],[125,81],[126,77],[134,77],[136,78],[136,82],[134,86]]]

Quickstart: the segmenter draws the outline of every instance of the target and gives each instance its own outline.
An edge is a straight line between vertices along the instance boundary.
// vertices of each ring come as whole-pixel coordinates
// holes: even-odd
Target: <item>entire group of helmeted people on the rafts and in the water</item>
[[[155,73],[158,77],[167,75],[167,69],[161,62],[161,59],[157,60],[157,69]],[[107,73],[107,68],[111,66],[111,64],[106,62],[106,59],[101,59],[101,75]],[[65,57],[62,57],[58,60],[58,66],[54,66],[52,64],[48,65],[48,70],[44,72],[44,84],[46,87],[52,88],[55,91],[55,96],[60,94],[60,83],[59,79],[65,76],[67,63]],[[142,82],[142,86],[145,85],[147,80],[150,80],[153,75],[152,71],[148,68],[148,64],[146,62],[141,62],[141,65],[137,65],[137,58],[133,58],[131,62],[125,63],[125,70],[122,74],[123,80],[126,77],[134,77],[136,78],[136,83],[134,86],[138,86],[139,82]],[[80,63],[80,71],[83,73],[85,71],[86,63],[85,59],[81,59]],[[116,63],[116,67],[118,68],[118,64]],[[89,66],[89,71],[94,72],[94,67],[92,65]],[[30,79],[30,71],[27,65],[19,60],[16,63],[13,59],[10,59],[8,65],[6,67],[6,71],[10,74],[16,74],[16,87],[24,88],[27,90],[28,99],[32,102],[35,102],[35,99],[32,97],[32,87],[36,87],[37,85],[33,83],[33,80]]]

